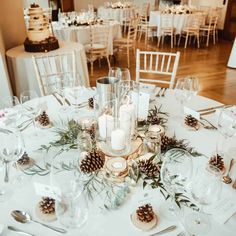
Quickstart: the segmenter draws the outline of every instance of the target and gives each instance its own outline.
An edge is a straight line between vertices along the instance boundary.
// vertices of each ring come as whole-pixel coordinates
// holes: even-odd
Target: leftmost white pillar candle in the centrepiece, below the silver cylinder
[[[113,127],[114,118],[111,115],[103,114],[98,118],[98,129],[101,138],[105,139],[110,136]]]

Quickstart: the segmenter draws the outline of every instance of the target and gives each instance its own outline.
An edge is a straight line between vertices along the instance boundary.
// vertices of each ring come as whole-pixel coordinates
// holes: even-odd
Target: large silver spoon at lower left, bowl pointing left
[[[35,222],[35,223],[41,224],[41,225],[43,225],[43,226],[45,226],[49,229],[57,231],[59,233],[67,233],[67,231],[65,229],[58,228],[58,227],[51,226],[51,225],[47,225],[47,224],[41,223],[37,220],[33,220],[30,217],[30,215],[27,212],[24,212],[24,211],[15,210],[15,211],[11,212],[11,215],[16,221],[21,222],[21,223]]]

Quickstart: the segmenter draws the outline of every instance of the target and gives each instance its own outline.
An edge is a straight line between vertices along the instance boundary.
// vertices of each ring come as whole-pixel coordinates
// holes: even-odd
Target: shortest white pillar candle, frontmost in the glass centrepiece
[[[115,129],[111,132],[111,148],[116,151],[125,148],[125,132],[122,129]]]

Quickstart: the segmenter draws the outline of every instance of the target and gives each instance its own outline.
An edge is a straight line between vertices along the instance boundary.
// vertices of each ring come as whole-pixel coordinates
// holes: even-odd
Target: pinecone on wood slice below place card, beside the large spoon
[[[43,197],[36,206],[36,215],[43,221],[55,221],[55,199],[50,197]]]

